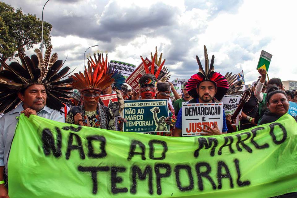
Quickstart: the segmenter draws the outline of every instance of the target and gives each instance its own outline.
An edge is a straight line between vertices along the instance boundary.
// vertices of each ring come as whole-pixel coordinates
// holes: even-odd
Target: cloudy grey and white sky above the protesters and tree
[[[45,0],[4,0],[41,18]],[[216,71],[244,71],[246,83],[259,74],[261,50],[273,54],[269,78],[297,80],[295,1],[252,0],[50,0],[44,20],[53,25],[53,52],[82,71],[84,51],[107,52],[109,60],[139,65],[155,46],[173,77],[198,72],[203,45],[215,55]],[[27,54],[33,54],[28,52]],[[204,64],[203,64],[204,65]]]

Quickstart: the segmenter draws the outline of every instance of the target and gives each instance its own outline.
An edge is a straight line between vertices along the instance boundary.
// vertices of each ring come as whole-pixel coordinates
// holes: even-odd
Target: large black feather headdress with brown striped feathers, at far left
[[[31,58],[24,56],[19,50],[19,58],[22,64],[11,62],[7,65],[0,60],[5,68],[0,71],[0,113],[8,112],[19,104],[18,93],[32,84],[43,84],[46,88],[46,105],[54,110],[60,111],[64,105],[69,104],[68,97],[72,88],[66,87],[73,79],[60,80],[67,75],[69,67],[63,66],[63,61],[58,60],[58,54],[54,53],[51,57],[52,45],[46,51],[42,58],[41,51],[35,49],[37,55]]]

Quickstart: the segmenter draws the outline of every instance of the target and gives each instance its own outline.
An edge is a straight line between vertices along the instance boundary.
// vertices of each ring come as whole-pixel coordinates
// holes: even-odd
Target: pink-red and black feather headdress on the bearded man
[[[188,94],[194,98],[198,98],[199,96],[196,91],[196,88],[199,87],[199,84],[203,81],[211,81],[217,86],[217,93],[214,96],[215,99],[217,99],[218,101],[222,100],[222,98],[224,97],[224,95],[228,90],[228,81],[222,74],[214,71],[214,66],[213,66],[214,55],[211,57],[210,67],[209,67],[207,49],[206,49],[206,46],[204,45],[205,70],[203,70],[203,67],[201,65],[201,62],[198,56],[196,56],[196,59],[199,65],[199,72],[197,74],[192,75],[191,78],[188,80],[186,85]]]

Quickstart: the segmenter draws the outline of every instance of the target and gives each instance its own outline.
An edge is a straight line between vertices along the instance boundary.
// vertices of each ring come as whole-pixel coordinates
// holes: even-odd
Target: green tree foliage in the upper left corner
[[[36,15],[23,14],[21,8],[16,10],[4,2],[0,2],[0,58],[5,62],[17,56],[20,48],[25,52],[41,43],[41,19]],[[52,25],[43,21],[43,43],[47,47],[51,43]],[[1,70],[1,68],[0,68]]]

